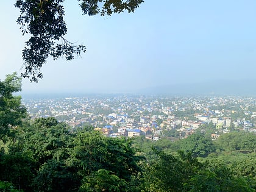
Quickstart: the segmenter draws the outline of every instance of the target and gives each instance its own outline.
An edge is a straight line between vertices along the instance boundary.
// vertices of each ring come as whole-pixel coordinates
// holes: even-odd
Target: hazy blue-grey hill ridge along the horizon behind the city
[[[256,96],[256,91],[253,89],[255,80],[219,80],[216,82],[199,82],[191,84],[173,84],[173,85],[159,85],[154,87],[145,87],[135,90],[41,90],[41,91],[27,91],[23,90],[18,93],[22,94],[145,94],[145,95],[220,95],[220,96]]]

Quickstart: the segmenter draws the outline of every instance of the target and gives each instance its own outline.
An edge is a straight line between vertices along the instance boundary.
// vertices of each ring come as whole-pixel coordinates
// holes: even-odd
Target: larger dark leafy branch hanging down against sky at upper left
[[[53,59],[65,57],[74,59],[74,55],[85,52],[85,46],[74,46],[63,36],[66,35],[65,15],[62,3],[64,0],[17,0],[15,6],[20,9],[21,15],[17,22],[21,25],[21,32],[29,33],[31,37],[26,41],[23,49],[25,73],[23,77],[31,77],[31,81],[38,81],[43,75],[41,66],[46,63],[48,56]]]

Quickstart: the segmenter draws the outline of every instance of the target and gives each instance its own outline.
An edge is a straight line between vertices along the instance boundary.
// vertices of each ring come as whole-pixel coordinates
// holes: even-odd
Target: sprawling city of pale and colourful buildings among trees
[[[256,132],[255,98],[98,95],[23,102],[32,118],[54,116],[71,127],[92,124],[109,137],[158,140],[171,131],[187,137],[207,127],[213,139],[232,129]]]

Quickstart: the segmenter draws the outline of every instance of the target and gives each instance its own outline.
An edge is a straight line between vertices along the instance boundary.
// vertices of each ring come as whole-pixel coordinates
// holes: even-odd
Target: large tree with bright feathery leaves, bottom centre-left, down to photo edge
[[[97,187],[99,183],[98,187],[102,190],[110,190],[115,182],[119,187],[113,191],[136,191],[139,183],[135,181],[135,176],[141,171],[138,166],[141,160],[132,141],[85,131],[77,133],[67,163],[82,176],[82,191],[90,191],[89,188]]]

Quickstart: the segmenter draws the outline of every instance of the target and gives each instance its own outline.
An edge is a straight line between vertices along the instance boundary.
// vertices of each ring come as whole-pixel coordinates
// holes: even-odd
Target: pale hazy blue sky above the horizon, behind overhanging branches
[[[0,6],[0,79],[21,73],[22,37],[15,1]],[[135,13],[82,15],[66,0],[69,41],[83,43],[82,59],[43,66],[38,84],[24,91],[133,91],[219,79],[255,80],[256,1],[152,1]]]

